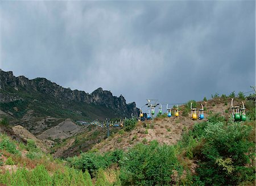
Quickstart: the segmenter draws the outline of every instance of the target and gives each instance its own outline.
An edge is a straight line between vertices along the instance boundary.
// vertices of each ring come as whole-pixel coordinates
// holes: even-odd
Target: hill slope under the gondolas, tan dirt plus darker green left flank
[[[241,100],[236,99],[236,102],[241,103]],[[253,103],[249,100],[243,100],[243,102],[248,105],[247,112],[251,112]],[[204,105],[205,109],[204,120],[191,120],[190,109],[189,112],[184,114],[186,105],[180,105],[179,117],[166,117],[166,114],[163,114],[156,117],[154,122],[152,120],[138,122],[130,132],[125,132],[123,128],[110,128],[112,135],[109,138],[106,138],[106,128],[85,126],[84,131],[80,134],[67,138],[63,142],[59,141],[52,151],[56,150],[55,157],[67,158],[79,155],[80,151],[86,152],[91,149],[101,153],[114,149],[127,150],[137,143],[148,144],[152,140],[157,140],[160,144],[174,145],[181,139],[183,133],[192,129],[194,124],[207,121],[209,115],[211,116],[213,113],[223,116],[226,121],[229,120],[231,113],[230,98],[214,98],[207,102],[197,102],[197,106],[200,103]]]

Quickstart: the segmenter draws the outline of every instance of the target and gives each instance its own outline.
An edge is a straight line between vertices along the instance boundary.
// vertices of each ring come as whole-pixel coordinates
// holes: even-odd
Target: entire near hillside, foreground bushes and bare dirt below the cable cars
[[[106,128],[83,126],[83,132],[59,140],[52,148],[55,158],[67,159],[43,153],[41,141],[22,126],[1,126],[2,132],[9,131],[11,136],[13,130],[19,138],[13,141],[0,135],[0,183],[255,185],[255,104],[236,98],[236,103],[245,102],[247,120],[234,122],[229,100],[197,102],[204,104],[204,120],[190,119],[190,102],[180,106],[179,117],[162,115],[154,122],[134,122],[131,127],[132,120],[126,120],[123,128],[110,129],[109,138]],[[56,130],[69,122],[61,122]],[[70,127],[68,131],[76,130],[72,124]],[[78,156],[71,158],[73,155]]]

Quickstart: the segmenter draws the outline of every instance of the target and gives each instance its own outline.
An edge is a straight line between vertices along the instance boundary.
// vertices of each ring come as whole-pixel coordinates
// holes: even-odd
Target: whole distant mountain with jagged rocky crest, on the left
[[[135,102],[126,104],[123,96],[98,88],[92,94],[63,88],[46,78],[15,77],[0,70],[0,117],[19,124],[34,134],[56,126],[65,119],[73,121],[138,116]]]

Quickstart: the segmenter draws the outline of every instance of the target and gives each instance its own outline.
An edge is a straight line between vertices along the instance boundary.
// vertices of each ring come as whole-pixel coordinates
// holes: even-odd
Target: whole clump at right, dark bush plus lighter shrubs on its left
[[[255,144],[249,139],[251,132],[251,126],[244,122],[226,122],[218,114],[194,125],[177,144],[188,158],[198,162],[197,175],[191,181],[197,185],[253,183]]]

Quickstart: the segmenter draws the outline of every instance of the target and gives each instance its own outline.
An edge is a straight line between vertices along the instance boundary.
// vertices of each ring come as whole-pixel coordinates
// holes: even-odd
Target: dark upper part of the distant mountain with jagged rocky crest
[[[0,103],[27,100],[27,98],[34,99],[33,101],[42,98],[43,101],[50,100],[49,103],[54,104],[60,104],[61,102],[62,108],[70,109],[77,113],[82,112],[77,111],[77,108],[71,108],[71,102],[100,105],[117,116],[129,117],[131,113],[134,116],[138,116],[138,109],[134,102],[126,104],[126,100],[122,95],[119,97],[113,96],[110,91],[102,90],[102,88],[98,88],[92,94],[88,94],[85,91],[72,91],[70,88],[63,88],[46,78],[30,80],[24,76],[15,77],[12,71],[5,72],[0,70]],[[84,115],[88,116],[86,113]]]

